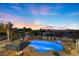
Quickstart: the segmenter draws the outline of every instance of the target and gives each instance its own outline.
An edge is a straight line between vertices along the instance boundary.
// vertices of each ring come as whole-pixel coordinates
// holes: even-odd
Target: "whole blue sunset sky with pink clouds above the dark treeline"
[[[0,22],[79,29],[79,3],[0,3]],[[27,25],[28,24],[28,25]]]

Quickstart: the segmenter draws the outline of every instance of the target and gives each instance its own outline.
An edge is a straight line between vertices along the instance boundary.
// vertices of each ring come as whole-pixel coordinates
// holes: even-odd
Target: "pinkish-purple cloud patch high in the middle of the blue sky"
[[[36,6],[36,5],[30,5],[28,6],[30,14],[32,15],[59,15],[59,13],[56,12],[51,12],[52,9],[54,9],[53,6],[47,6],[47,5],[40,5],[40,6]],[[56,7],[55,9],[57,9],[58,7]]]

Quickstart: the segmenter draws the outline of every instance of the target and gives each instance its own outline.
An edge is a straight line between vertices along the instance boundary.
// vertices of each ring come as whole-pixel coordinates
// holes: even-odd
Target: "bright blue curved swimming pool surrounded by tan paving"
[[[29,46],[35,48],[36,52],[47,52],[49,50],[52,51],[62,51],[63,46],[61,45],[61,41],[43,41],[43,40],[32,40]]]

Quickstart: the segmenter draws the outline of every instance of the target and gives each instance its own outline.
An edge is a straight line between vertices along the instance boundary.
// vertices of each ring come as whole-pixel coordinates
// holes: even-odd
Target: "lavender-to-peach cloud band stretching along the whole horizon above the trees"
[[[60,27],[60,26],[46,26],[46,25],[42,25],[41,21],[39,19],[32,19],[33,22],[28,23],[28,22],[24,22],[24,20],[28,20],[28,19],[24,19],[12,14],[7,14],[7,13],[0,13],[0,22],[12,22],[14,24],[14,27],[18,27],[18,28],[23,28],[23,27],[27,27],[27,28],[32,28],[32,29],[40,29],[40,28],[46,28],[46,29],[78,29],[79,30],[79,25],[78,24],[68,24],[65,27]]]

